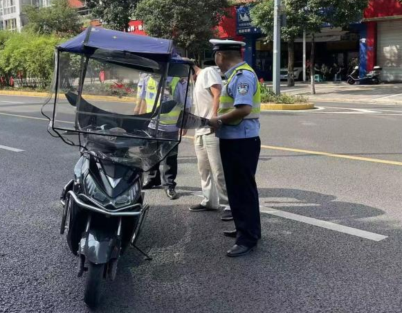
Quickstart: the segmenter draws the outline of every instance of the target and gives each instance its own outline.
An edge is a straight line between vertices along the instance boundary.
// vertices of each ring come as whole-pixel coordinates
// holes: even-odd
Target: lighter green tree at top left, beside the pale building
[[[28,31],[39,35],[58,35],[66,37],[76,35],[82,30],[80,16],[68,4],[68,0],[54,0],[50,7],[24,6],[28,17]]]

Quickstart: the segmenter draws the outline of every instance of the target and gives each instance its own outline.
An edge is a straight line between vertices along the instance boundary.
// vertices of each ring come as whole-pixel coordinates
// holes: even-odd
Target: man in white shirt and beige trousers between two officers
[[[193,69],[196,80],[193,94],[195,114],[203,118],[216,117],[222,89],[221,76],[214,67],[200,69],[194,65]],[[219,138],[211,128],[196,129],[194,146],[201,175],[203,201],[191,206],[190,211],[217,210],[219,206],[223,206],[221,220],[232,220],[219,152]]]

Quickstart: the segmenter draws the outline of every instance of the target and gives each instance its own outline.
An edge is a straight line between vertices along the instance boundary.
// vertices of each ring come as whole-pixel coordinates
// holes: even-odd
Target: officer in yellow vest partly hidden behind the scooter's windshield
[[[154,80],[152,76],[147,78],[144,83],[145,88],[145,102],[147,104],[147,113],[152,112],[154,109],[154,102],[156,93],[158,90],[158,80]],[[176,126],[179,119],[180,112],[183,109],[185,103],[185,91],[187,89],[187,82],[179,77],[168,77],[166,80],[166,87],[162,92],[162,102],[175,100],[177,105],[168,113],[161,114],[158,123],[158,129],[156,130],[156,120],[150,121],[148,127],[152,132],[156,132],[152,135],[157,138],[172,139],[174,141],[179,138],[179,128]],[[170,154],[165,158],[163,163],[163,172],[159,170],[159,164],[156,164],[148,172],[147,181],[143,186],[143,189],[151,189],[156,186],[165,188],[165,193],[170,199],[177,199],[177,193],[174,188],[176,187],[177,176],[177,154],[179,147],[176,145]],[[161,179],[162,178],[162,179]]]

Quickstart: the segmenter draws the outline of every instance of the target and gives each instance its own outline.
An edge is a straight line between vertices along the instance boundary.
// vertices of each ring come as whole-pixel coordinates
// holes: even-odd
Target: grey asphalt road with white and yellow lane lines
[[[78,150],[46,133],[38,102],[0,96],[0,145],[24,150],[0,146],[0,312],[89,312],[84,278],[58,234],[58,199]],[[121,258],[98,312],[401,312],[402,107],[317,105],[262,114],[257,184],[269,213],[244,258],[225,256],[232,240],[221,232],[232,222],[188,211],[201,188],[185,138],[181,197],[146,195],[139,245],[154,260],[134,250]]]

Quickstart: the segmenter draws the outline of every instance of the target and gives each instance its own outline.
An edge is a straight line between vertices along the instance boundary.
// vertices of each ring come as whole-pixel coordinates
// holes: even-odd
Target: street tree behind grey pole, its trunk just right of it
[[[282,6],[282,14],[286,15],[286,25],[281,26],[282,39],[288,43],[288,86],[295,84],[294,62],[295,62],[295,38],[302,35],[307,17],[303,13],[303,8],[307,4],[305,0],[287,0],[286,5]],[[273,13],[274,0],[259,1],[250,10],[253,24],[262,29],[266,34],[266,39],[273,39]]]

